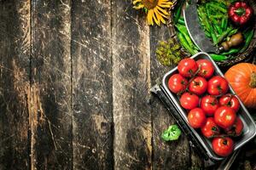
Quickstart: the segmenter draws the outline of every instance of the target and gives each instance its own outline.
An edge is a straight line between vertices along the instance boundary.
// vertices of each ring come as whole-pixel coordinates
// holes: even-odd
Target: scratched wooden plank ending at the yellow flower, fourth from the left
[[[113,1],[114,167],[150,169],[149,27],[130,0]]]

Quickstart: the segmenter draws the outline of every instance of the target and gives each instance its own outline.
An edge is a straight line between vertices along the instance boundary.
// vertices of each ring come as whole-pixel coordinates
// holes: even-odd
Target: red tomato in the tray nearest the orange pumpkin
[[[229,90],[229,83],[224,77],[215,76],[212,77],[208,82],[208,94],[219,95],[225,94]]]

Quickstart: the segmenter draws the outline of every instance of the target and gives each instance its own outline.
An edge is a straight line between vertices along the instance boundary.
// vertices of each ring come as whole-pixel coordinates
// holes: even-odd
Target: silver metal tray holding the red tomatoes
[[[191,57],[191,59],[208,59],[212,62],[212,65],[215,67],[214,75],[219,75],[221,77],[224,77],[223,73],[219,70],[218,66],[215,64],[215,62],[211,59],[211,57],[206,53],[198,53]],[[168,88],[168,80],[169,78],[177,73],[177,67],[172,69],[172,71],[169,71],[166,73],[166,75],[162,79],[162,85],[165,88],[166,94],[168,95],[169,99],[172,100],[172,103],[176,106],[177,111],[179,114],[183,117],[183,120],[189,125],[188,119],[187,119],[187,111],[185,111],[182,106],[179,103],[179,99],[177,98],[176,94],[173,94],[169,88]],[[236,95],[234,90],[230,87],[229,92],[230,94]],[[238,96],[236,95],[238,98]],[[239,99],[239,98],[238,98]],[[242,145],[246,144],[250,139],[253,139],[253,137],[256,135],[256,124],[253,121],[252,116],[250,116],[249,112],[247,111],[246,107],[241,103],[240,101],[240,109],[237,112],[237,116],[241,118],[241,121],[243,122],[244,128],[243,132],[240,137],[232,138],[234,139],[235,148],[234,150],[238,150],[241,148]],[[221,161],[224,159],[224,157],[217,156],[213,150],[212,150],[212,143],[210,139],[205,138],[199,130],[196,130],[192,127],[190,127],[192,133],[195,134],[195,137],[201,142],[202,147],[207,150],[207,155],[215,161]]]

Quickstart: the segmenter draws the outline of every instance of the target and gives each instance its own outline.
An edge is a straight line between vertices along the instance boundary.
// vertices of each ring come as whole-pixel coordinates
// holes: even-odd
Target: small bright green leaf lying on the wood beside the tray
[[[174,124],[168,127],[162,134],[161,138],[165,141],[170,141],[170,140],[177,140],[178,137],[181,135],[181,130],[179,127]]]

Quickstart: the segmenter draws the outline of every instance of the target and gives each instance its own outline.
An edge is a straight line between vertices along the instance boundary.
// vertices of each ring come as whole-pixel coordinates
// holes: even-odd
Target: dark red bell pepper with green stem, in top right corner
[[[253,15],[253,8],[245,2],[238,1],[230,5],[229,17],[237,25],[244,25]]]

